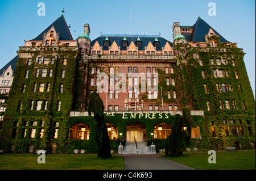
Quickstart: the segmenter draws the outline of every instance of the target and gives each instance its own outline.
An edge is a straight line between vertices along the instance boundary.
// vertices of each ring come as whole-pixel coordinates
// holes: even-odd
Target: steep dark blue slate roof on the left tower
[[[32,39],[31,41],[43,40],[44,33],[47,33],[52,26],[55,28],[55,31],[57,33],[60,33],[59,40],[73,40],[65,18],[63,15],[61,15],[60,18],[56,19],[55,22],[53,22],[48,28],[46,28],[46,30],[44,30],[42,33],[40,33],[40,35],[38,35],[38,37]]]

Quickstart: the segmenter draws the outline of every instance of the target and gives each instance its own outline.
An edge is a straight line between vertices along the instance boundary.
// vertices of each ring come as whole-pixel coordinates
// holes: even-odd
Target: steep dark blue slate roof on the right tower
[[[189,35],[184,35],[186,37],[186,39],[188,41],[196,41],[196,42],[205,42],[204,39],[204,35],[207,35],[210,28],[212,28],[211,26],[209,26],[209,24],[207,22],[205,22],[203,19],[201,19],[200,17],[197,19],[196,23],[193,26],[193,32],[191,33],[191,37],[189,38]],[[224,39],[224,37],[222,37],[220,35],[220,33],[218,33],[216,30],[214,30],[212,28],[213,32],[220,36],[220,41],[224,42],[224,43],[229,43],[230,41]],[[181,33],[183,35],[183,33]]]

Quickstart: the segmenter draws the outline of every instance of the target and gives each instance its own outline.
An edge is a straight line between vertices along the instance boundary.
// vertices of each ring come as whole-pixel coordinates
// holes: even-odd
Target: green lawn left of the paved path
[[[38,163],[39,155],[0,155],[0,170],[124,170],[123,157],[99,159],[97,155],[51,155]]]

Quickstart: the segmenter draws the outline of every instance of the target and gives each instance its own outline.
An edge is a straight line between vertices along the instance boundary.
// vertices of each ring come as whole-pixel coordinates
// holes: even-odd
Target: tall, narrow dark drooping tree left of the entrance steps
[[[111,157],[110,141],[108,131],[104,121],[104,105],[97,92],[92,92],[89,98],[89,116],[94,114],[94,120],[96,123],[96,151],[97,155],[101,159]]]

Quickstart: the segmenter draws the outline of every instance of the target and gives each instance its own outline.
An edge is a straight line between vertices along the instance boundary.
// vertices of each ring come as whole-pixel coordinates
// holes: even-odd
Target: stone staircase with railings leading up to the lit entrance
[[[152,152],[150,146],[146,146],[143,141],[137,142],[137,148],[134,142],[126,142],[126,146],[123,148],[122,154],[153,154],[155,150]]]

